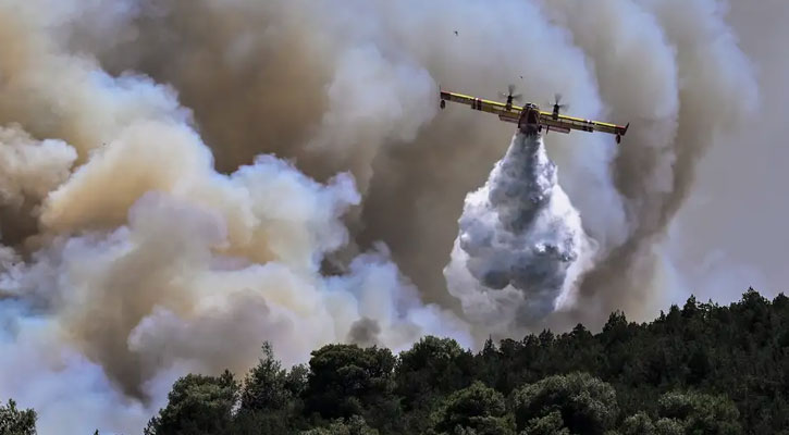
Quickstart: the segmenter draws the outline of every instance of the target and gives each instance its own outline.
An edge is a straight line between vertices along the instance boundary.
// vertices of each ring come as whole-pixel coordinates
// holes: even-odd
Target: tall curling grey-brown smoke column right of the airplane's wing
[[[665,295],[664,259],[654,244],[685,202],[699,159],[753,113],[753,69],[724,21],[722,2],[551,4],[551,15],[594,57],[612,115],[632,120],[613,173],[629,216],[627,239],[584,278],[584,309],[572,321],[600,325],[615,308],[649,316]],[[568,194],[584,197],[571,184]]]

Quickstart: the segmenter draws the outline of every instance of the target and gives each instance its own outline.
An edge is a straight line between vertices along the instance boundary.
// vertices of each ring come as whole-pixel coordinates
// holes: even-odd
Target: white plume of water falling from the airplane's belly
[[[506,334],[571,307],[594,244],[556,184],[542,136],[518,132],[488,183],[466,197],[449,291],[474,323]]]

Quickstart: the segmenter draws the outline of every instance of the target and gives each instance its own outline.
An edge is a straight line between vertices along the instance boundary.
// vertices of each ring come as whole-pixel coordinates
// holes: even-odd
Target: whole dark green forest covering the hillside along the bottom
[[[399,355],[333,344],[310,357],[283,368],[263,343],[248,373],[181,377],[144,434],[789,435],[789,298],[752,288],[479,352],[423,337]],[[0,406],[0,435],[35,424],[35,410]]]

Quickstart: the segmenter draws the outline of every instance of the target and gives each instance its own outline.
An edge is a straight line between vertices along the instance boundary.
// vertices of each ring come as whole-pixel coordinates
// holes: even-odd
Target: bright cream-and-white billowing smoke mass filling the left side
[[[0,3],[0,395],[41,434],[138,433],[175,377],[243,374],[263,340],[285,364],[337,341],[473,345],[385,246],[321,273],[350,241],[350,174],[318,183],[266,154],[218,173],[172,87],[70,53],[59,37],[83,7],[35,13],[48,4]]]

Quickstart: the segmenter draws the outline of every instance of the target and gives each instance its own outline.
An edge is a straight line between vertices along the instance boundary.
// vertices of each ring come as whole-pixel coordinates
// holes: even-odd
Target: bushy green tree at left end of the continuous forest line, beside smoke
[[[238,383],[230,371],[220,376],[188,374],[173,385],[168,405],[148,422],[145,435],[225,434],[233,427]]]

